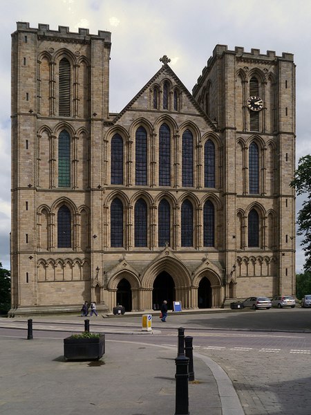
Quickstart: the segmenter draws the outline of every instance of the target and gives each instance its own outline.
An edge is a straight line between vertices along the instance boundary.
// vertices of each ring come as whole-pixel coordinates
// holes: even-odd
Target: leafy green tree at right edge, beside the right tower
[[[296,194],[305,194],[307,199],[303,201],[302,208],[298,212],[297,234],[302,235],[301,246],[305,252],[305,264],[303,269],[311,272],[311,156],[299,158],[298,169],[294,174],[294,180],[290,185],[295,187]]]

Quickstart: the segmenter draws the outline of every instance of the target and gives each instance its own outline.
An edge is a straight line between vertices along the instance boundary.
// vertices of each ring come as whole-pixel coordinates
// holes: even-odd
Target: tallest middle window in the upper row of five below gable
[[[160,127],[159,185],[171,185],[171,131],[167,124],[162,124]]]

